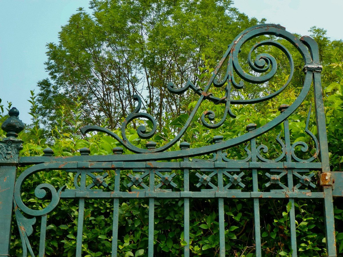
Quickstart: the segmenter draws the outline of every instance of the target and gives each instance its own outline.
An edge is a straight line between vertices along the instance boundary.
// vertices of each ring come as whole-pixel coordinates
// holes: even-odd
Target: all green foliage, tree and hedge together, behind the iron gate
[[[108,3],[107,3],[108,2]],[[59,43],[50,43],[46,63],[49,78],[39,82],[40,92],[31,91],[29,114],[32,123],[20,134],[24,140],[21,156],[43,155],[43,149],[50,147],[55,156],[80,155],[78,149],[88,147],[91,155],[110,155],[118,142],[102,133],[84,137],[80,128],[88,124],[110,127],[120,135],[118,129],[123,117],[134,109],[132,95],[144,92],[144,108],[157,117],[160,126],[151,140],[158,146],[164,145],[180,131],[196,104],[197,96],[170,95],[166,83],[183,85],[188,78],[198,87],[209,79],[213,67],[221,58],[227,44],[243,29],[257,24],[256,19],[231,8],[231,1],[91,1],[94,13],[80,9],[72,15],[68,24],[62,27]],[[211,13],[211,15],[209,15]],[[264,22],[262,20],[261,22]],[[210,26],[211,24],[211,26]],[[319,44],[321,62],[324,64],[322,84],[327,119],[327,134],[331,169],[342,170],[343,163],[343,42],[330,41],[320,28],[310,31]],[[265,38],[261,37],[260,40]],[[192,148],[209,145],[215,135],[224,140],[246,133],[249,123],[258,127],[273,120],[281,103],[291,104],[303,84],[304,65],[296,49],[283,39],[277,39],[291,51],[295,73],[291,84],[279,96],[255,105],[232,105],[236,118],[227,118],[218,129],[209,130],[201,124],[203,111],[213,110],[215,121],[223,115],[223,105],[204,101],[183,140]],[[247,56],[247,43],[241,56]],[[279,50],[264,46],[261,51],[269,52],[278,62],[279,69],[268,85],[246,83],[243,90],[233,90],[235,99],[248,99],[270,94],[283,85],[289,75],[289,64]],[[257,53],[253,53],[257,54]],[[246,59],[244,59],[246,60]],[[249,70],[246,62],[242,67]],[[220,71],[220,74],[223,71]],[[143,79],[144,77],[144,79]],[[238,80],[238,78],[237,78]],[[144,84],[144,85],[143,85]],[[223,90],[213,94],[222,97]],[[312,149],[313,140],[304,132],[305,121],[313,92],[303,105],[290,117],[291,141],[304,141]],[[11,103],[8,103],[8,109]],[[316,135],[314,106],[310,113],[309,130]],[[0,122],[5,115],[0,99]],[[137,127],[150,122],[134,121],[127,127],[130,142],[145,147],[146,140],[137,135]],[[269,151],[262,153],[273,159],[280,155],[280,145],[275,138],[283,132],[283,125],[257,138],[257,144],[265,144]],[[283,133],[281,133],[283,135]],[[5,137],[0,130],[0,137]],[[283,140],[284,138],[281,139]],[[227,158],[247,157],[246,144],[226,150]],[[178,144],[170,150],[179,149]],[[124,149],[124,154],[130,153]],[[300,158],[310,154],[296,150]],[[211,155],[197,158],[208,159]],[[19,168],[19,174],[25,168]],[[108,190],[114,189],[114,172],[107,171],[105,179]],[[132,172],[132,171],[127,171]],[[175,171],[181,174],[181,171]],[[258,174],[262,176],[262,172]],[[49,201],[37,199],[34,188],[40,183],[55,187],[66,185],[73,188],[74,173],[66,171],[42,171],[31,176],[23,184],[22,198],[30,208],[44,208]],[[182,176],[175,182],[182,184]],[[190,185],[197,179],[190,176]],[[213,178],[215,180],[215,178]],[[248,173],[246,182],[251,181]],[[127,191],[129,179],[121,172],[121,191]],[[265,190],[262,182],[259,188]],[[249,184],[249,183],[246,183]],[[251,184],[251,183],[250,183]],[[102,188],[104,189],[104,188]],[[195,189],[195,188],[193,188]],[[251,188],[246,188],[250,190]],[[182,191],[183,188],[176,188]],[[291,256],[288,199],[260,200],[261,242],[265,256]],[[326,256],[324,216],[321,205],[315,200],[298,199],[295,203],[298,256]],[[219,224],[216,212],[218,203],[213,199],[191,199],[190,201],[190,251],[192,256],[219,255]],[[226,255],[237,257],[255,256],[253,240],[253,202],[251,199],[226,199],[224,202]],[[146,256],[148,244],[149,204],[147,200],[130,199],[119,203],[119,256]],[[182,256],[184,241],[184,203],[178,199],[155,200],[154,247],[162,256]],[[22,254],[21,240],[13,221],[11,255]],[[30,237],[37,252],[40,234],[39,219]],[[338,252],[343,253],[343,206],[335,201],[335,221]],[[83,255],[110,256],[112,243],[113,201],[89,199],[85,202]],[[46,255],[74,256],[78,224],[78,203],[76,200],[61,200],[59,207],[48,215]]]

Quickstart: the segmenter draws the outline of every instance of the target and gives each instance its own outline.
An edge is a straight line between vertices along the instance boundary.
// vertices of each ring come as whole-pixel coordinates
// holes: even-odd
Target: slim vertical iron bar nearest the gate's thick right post
[[[287,108],[287,107],[286,107]],[[283,110],[281,110],[282,112]],[[291,139],[289,138],[289,121],[286,119],[283,122],[284,126],[284,136],[285,136],[285,145],[286,145],[286,162],[292,161],[292,152],[291,152]],[[287,169],[287,182],[288,182],[288,191],[293,191],[293,171]],[[297,235],[295,229],[295,207],[294,199],[289,199],[291,203],[291,210],[289,210],[289,226],[291,228],[291,246],[292,246],[292,257],[297,257]]]

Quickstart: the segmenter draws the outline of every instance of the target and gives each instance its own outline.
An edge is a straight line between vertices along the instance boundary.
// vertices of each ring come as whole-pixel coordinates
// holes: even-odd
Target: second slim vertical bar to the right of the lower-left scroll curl
[[[120,169],[115,170],[114,192],[119,192]],[[112,257],[117,256],[118,248],[118,215],[119,214],[119,199],[113,200],[113,228],[112,228]]]

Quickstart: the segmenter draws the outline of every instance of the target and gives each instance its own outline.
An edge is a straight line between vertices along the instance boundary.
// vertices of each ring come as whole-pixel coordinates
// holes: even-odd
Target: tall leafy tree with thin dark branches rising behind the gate
[[[44,123],[52,124],[59,105],[70,109],[78,97],[83,121],[108,122],[110,129],[133,111],[134,94],[159,125],[165,112],[180,115],[192,95],[169,94],[167,83],[196,84],[204,60],[216,64],[233,38],[258,22],[231,4],[91,1],[93,14],[79,9],[62,27],[59,43],[47,45],[49,78],[38,83],[37,98]]]

